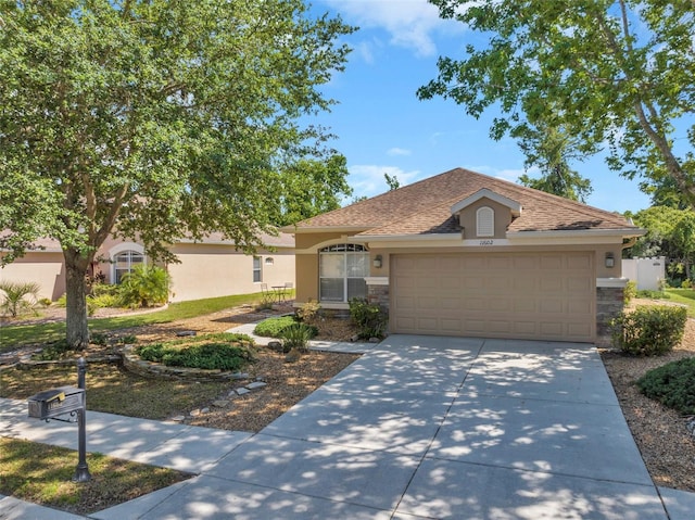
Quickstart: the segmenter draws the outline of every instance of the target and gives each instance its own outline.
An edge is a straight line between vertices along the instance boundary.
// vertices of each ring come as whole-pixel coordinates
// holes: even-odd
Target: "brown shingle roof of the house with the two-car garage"
[[[460,232],[451,207],[486,188],[522,206],[508,231],[559,231],[634,228],[619,214],[463,168],[303,220],[296,230],[364,227],[364,234]]]

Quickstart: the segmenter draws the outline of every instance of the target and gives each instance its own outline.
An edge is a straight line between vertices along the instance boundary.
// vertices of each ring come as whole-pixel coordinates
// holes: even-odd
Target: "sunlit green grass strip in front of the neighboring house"
[[[156,313],[90,319],[89,330],[92,333],[100,333],[146,325],[167,324],[179,319],[217,313],[229,307],[257,303],[261,296],[261,293],[241,294],[173,303],[169,304],[168,308]],[[13,351],[20,346],[58,341],[63,338],[65,338],[64,322],[9,325],[0,328],[0,353]]]

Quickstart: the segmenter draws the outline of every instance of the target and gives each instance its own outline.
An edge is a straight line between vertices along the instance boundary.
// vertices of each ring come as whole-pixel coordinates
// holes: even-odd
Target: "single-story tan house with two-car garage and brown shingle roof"
[[[391,333],[605,343],[622,216],[456,168],[282,229],[296,300],[389,308]]]

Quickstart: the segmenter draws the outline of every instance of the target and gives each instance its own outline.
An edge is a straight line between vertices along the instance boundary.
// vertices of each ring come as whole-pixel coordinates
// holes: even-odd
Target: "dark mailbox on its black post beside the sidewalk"
[[[79,358],[77,362],[77,384],[75,386],[59,386],[56,389],[45,390],[28,398],[29,417],[35,419],[41,419],[49,421],[64,420],[59,419],[59,416],[70,414],[71,416],[77,415],[77,428],[78,428],[78,452],[79,459],[74,482],[89,482],[91,474],[89,474],[89,468],[87,467],[87,428],[86,428],[86,411],[87,411],[87,397],[85,393],[85,372],[87,371],[87,364],[84,358]],[[73,422],[67,420],[67,422]]]

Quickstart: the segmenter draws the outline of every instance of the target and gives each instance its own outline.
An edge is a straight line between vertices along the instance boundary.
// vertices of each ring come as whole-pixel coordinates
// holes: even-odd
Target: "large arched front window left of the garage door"
[[[369,252],[361,244],[334,244],[318,252],[319,301],[346,303],[367,296]]]

